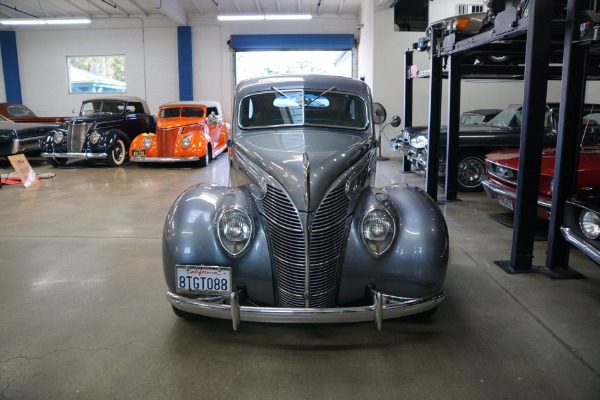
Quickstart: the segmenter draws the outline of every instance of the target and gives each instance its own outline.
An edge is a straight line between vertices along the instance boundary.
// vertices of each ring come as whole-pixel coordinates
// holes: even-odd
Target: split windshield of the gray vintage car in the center
[[[240,103],[242,128],[270,126],[329,126],[365,129],[368,124],[365,101],[354,94],[311,90],[278,90],[256,93]]]

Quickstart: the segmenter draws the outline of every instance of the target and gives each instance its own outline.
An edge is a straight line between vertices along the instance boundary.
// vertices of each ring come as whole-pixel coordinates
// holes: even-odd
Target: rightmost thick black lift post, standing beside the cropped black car
[[[581,137],[578,133],[581,131],[581,114],[585,98],[585,65],[588,47],[574,45],[573,41],[578,39],[576,35],[579,34],[579,26],[576,25],[575,16],[582,6],[583,0],[570,0],[567,5],[554,191],[548,228],[546,270],[552,277],[560,278],[582,277],[569,268],[570,245],[560,233],[565,201],[575,193],[579,164]]]

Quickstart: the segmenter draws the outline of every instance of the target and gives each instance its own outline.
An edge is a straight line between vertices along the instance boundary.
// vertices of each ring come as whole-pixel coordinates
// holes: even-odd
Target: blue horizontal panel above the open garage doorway
[[[235,51],[351,50],[354,35],[232,35],[227,43]]]

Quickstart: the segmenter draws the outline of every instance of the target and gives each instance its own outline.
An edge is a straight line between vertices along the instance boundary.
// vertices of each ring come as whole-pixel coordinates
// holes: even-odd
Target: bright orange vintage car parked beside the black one
[[[129,148],[133,162],[197,162],[200,166],[227,149],[231,126],[216,101],[179,101],[159,107],[156,133],[138,135]]]

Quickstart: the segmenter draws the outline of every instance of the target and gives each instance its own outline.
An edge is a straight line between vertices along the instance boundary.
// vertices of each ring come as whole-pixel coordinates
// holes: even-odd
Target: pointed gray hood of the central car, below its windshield
[[[236,148],[275,178],[300,211],[314,210],[331,184],[373,145],[367,133],[273,130],[236,135]],[[305,204],[308,164],[310,202]],[[366,164],[365,164],[366,165]]]

